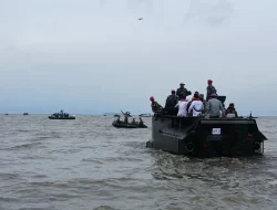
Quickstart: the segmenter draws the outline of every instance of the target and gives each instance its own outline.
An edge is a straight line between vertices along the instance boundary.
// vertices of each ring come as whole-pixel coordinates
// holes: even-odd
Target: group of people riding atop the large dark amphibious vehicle
[[[206,99],[204,99],[204,94],[199,94],[197,91],[192,98],[188,98],[188,96],[192,95],[192,92],[185,88],[184,83],[181,83],[179,88],[177,88],[176,92],[173,90],[171,95],[167,96],[165,107],[161,106],[155,98],[151,96],[150,101],[152,102],[152,111],[154,113],[166,113],[179,117],[237,117],[235,104],[230,103],[228,108],[225,109],[222,102],[217,99],[217,91],[213,86],[213,81],[208,80],[207,84]]]

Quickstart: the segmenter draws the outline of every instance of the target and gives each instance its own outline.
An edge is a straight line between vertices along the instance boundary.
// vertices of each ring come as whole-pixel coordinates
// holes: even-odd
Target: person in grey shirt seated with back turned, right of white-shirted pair
[[[206,114],[209,115],[209,118],[219,118],[220,111],[224,113],[223,104],[216,98],[216,94],[212,94],[211,97],[212,98],[207,102]]]

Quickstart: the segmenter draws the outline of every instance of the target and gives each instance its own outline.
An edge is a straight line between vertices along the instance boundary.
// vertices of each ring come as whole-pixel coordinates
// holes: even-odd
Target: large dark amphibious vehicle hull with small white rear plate
[[[177,117],[161,113],[152,117],[152,140],[146,147],[193,157],[238,157],[264,154],[264,140],[267,138],[255,119]]]

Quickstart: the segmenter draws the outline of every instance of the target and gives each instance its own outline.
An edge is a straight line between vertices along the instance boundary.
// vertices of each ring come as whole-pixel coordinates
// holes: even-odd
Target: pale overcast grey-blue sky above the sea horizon
[[[0,0],[0,112],[150,113],[212,78],[277,115],[276,0]],[[143,18],[138,21],[138,18]]]

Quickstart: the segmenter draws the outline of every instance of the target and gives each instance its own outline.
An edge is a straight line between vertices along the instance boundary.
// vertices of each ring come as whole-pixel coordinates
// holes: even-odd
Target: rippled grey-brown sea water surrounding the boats
[[[2,118],[1,118],[2,117]],[[113,117],[0,116],[0,209],[276,209],[277,118],[265,155],[198,159],[145,148],[148,129]]]

